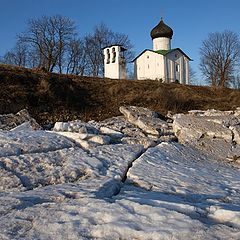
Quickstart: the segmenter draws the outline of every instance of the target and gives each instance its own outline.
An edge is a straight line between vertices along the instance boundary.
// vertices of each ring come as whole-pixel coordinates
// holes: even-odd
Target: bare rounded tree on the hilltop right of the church
[[[238,35],[227,30],[210,33],[200,55],[200,69],[208,82],[212,86],[229,86],[240,58]]]

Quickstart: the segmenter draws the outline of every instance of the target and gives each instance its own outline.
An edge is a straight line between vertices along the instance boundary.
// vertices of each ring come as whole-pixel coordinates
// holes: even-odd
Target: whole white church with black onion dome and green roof
[[[146,49],[133,60],[135,79],[188,84],[191,59],[180,48],[171,48],[173,30],[161,18],[150,36],[153,50]]]

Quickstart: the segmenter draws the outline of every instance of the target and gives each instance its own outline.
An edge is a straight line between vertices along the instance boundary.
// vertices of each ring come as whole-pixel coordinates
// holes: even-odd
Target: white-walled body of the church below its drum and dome
[[[134,61],[135,78],[159,80],[165,83],[189,83],[189,58],[179,49],[166,54],[145,50]]]

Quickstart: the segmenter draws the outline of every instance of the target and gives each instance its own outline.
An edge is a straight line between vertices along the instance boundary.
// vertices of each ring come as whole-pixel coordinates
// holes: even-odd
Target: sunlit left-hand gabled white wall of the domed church
[[[164,80],[164,57],[160,54],[146,51],[135,61],[136,78],[139,80]]]

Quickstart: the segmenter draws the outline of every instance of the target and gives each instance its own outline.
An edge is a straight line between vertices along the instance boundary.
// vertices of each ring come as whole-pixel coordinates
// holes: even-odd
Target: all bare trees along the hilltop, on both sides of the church
[[[126,60],[134,57],[127,35],[97,25],[93,32],[80,37],[74,21],[61,15],[30,19],[26,30],[17,36],[13,49],[0,58],[1,63],[49,72],[103,76],[103,48],[120,44],[128,51]],[[240,89],[240,40],[232,31],[210,33],[200,48],[200,70],[213,87]],[[196,81],[190,66],[189,80]]]

